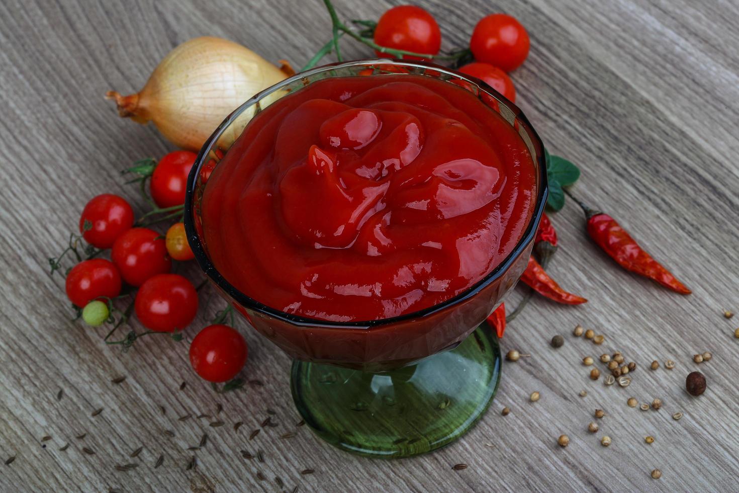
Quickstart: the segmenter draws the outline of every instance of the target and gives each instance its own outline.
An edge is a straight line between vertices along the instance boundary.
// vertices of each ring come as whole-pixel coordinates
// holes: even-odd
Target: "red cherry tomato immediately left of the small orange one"
[[[131,228],[113,243],[110,257],[118,266],[123,280],[140,286],[146,279],[169,272],[172,260],[164,239],[148,228]]]

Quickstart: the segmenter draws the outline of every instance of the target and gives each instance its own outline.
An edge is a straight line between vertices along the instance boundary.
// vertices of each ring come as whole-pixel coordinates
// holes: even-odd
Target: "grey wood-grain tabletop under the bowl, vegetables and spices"
[[[391,2],[337,0],[342,18],[378,18]],[[296,429],[290,361],[239,322],[250,344],[244,375],[262,386],[217,395],[188,364],[188,341],[222,307],[212,290],[185,341],[151,337],[129,353],[103,330],[70,322],[61,250],[89,197],[138,200],[119,171],[171,149],[157,131],[121,120],[109,89],[140,89],[182,41],[219,35],[265,58],[302,66],[327,40],[319,0],[0,2],[0,490],[2,491],[596,491],[739,487],[739,4],[731,0],[418,1],[442,20],[443,47],[466,44],[477,18],[505,11],[531,34],[513,74],[518,104],[548,148],[579,164],[577,194],[618,217],[694,290],[683,297],[616,268],[585,237],[573,203],[553,215],[562,247],[551,273],[584,294],[582,307],[535,300],[505,333],[503,350],[531,357],[503,370],[491,411],[469,435],[430,455],[368,460]],[[344,42],[349,57],[370,55]],[[140,203],[140,200],[138,201]],[[199,275],[191,267],[193,277]],[[520,296],[520,295],[519,295]],[[571,336],[575,324],[606,336]],[[565,346],[548,341],[565,335]],[[621,350],[639,370],[626,389],[588,378],[583,356]],[[701,398],[684,391],[698,365]],[[677,362],[655,372],[653,359]],[[111,379],[126,375],[126,381]],[[180,389],[185,381],[186,387]],[[58,399],[58,392],[63,392]],[[532,404],[528,395],[542,398]],[[585,398],[580,390],[588,390]],[[659,411],[627,407],[661,398]],[[218,415],[217,404],[222,404]],[[163,415],[160,407],[166,409]],[[500,409],[511,407],[503,417]],[[607,415],[588,433],[596,407]],[[92,417],[91,412],[103,408]],[[251,430],[273,410],[252,441]],[[684,412],[673,421],[673,412]],[[201,413],[211,418],[194,418]],[[187,421],[177,421],[186,414]],[[225,426],[211,427],[211,421]],[[239,432],[233,424],[242,421]],[[174,432],[174,437],[163,433]],[[294,438],[279,438],[296,430]],[[75,438],[86,432],[85,438]],[[188,446],[208,443],[197,452]],[[561,449],[556,438],[570,437]],[[613,444],[599,444],[602,435]],[[41,442],[44,436],[50,440]],[[655,442],[644,443],[653,435]],[[65,443],[69,447],[60,448]],[[143,446],[137,458],[129,458]],[[83,452],[86,447],[95,455]],[[242,458],[239,450],[264,462]],[[163,455],[163,465],[154,469]],[[185,470],[190,458],[197,466]],[[9,465],[2,465],[15,457]],[[136,463],[129,472],[116,465]],[[455,471],[455,463],[469,468]],[[304,469],[312,475],[301,475]],[[650,471],[661,469],[653,480]],[[265,480],[258,480],[261,472]],[[285,483],[280,488],[274,477]]]

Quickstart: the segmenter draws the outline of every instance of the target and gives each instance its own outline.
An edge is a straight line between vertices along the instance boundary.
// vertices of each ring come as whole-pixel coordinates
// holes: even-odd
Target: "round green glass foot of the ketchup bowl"
[[[460,438],[500,381],[494,333],[478,327],[453,350],[384,373],[294,361],[293,399],[305,423],[339,449],[378,458],[423,454]]]

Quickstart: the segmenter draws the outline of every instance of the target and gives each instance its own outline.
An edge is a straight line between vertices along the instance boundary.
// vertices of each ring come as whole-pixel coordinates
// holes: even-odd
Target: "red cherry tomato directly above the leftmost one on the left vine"
[[[89,229],[85,231],[85,222]],[[95,248],[110,248],[115,239],[134,224],[134,211],[123,197],[101,194],[82,209],[80,233]]]

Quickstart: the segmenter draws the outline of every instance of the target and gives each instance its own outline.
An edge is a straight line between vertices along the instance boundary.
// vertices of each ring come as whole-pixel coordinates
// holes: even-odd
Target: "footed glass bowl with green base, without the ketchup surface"
[[[211,171],[250,120],[282,96],[325,78],[386,74],[423,75],[456,84],[502,115],[522,137],[536,167],[536,204],[514,250],[463,293],[390,319],[309,319],[263,305],[234,288],[211,262],[202,235],[201,200]],[[306,423],[341,449],[405,457],[453,441],[488,408],[500,378],[500,350],[494,333],[482,323],[525,270],[546,196],[544,146],[520,109],[503,95],[476,78],[423,61],[351,61],[287,78],[246,101],[220,124],[190,172],[185,229],[198,264],[222,296],[294,358],[293,398]]]

